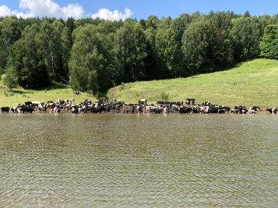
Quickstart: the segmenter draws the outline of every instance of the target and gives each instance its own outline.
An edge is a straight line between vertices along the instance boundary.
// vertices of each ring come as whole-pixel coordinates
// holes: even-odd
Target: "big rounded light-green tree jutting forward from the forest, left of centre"
[[[70,78],[74,89],[90,90],[93,94],[111,87],[111,56],[105,34],[98,26],[86,24],[74,31],[70,58]]]

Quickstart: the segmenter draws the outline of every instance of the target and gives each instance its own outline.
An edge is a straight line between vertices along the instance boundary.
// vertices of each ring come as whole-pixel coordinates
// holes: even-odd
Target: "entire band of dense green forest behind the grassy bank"
[[[122,83],[221,71],[259,57],[278,58],[278,15],[0,18],[0,76],[10,89],[58,82],[97,95]]]

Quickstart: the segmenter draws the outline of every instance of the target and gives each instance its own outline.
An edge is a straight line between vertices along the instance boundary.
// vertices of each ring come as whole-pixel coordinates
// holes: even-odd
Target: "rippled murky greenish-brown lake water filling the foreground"
[[[0,207],[277,207],[278,116],[0,114]]]

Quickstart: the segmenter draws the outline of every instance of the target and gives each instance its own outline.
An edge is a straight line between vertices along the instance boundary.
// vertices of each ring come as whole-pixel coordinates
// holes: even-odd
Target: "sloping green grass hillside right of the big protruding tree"
[[[155,103],[167,95],[169,101],[196,98],[219,105],[278,105],[278,61],[256,59],[227,71],[189,78],[126,83],[108,91],[110,98],[137,103],[145,98]]]

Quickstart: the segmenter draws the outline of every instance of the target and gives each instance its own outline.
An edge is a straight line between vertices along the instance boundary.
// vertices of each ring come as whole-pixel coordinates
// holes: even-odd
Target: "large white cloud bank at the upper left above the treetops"
[[[17,17],[57,17],[66,19],[74,17],[79,19],[84,17],[85,11],[79,3],[71,3],[61,7],[52,0],[20,0],[19,8],[11,10],[8,6],[0,6],[0,16],[16,15]]]

